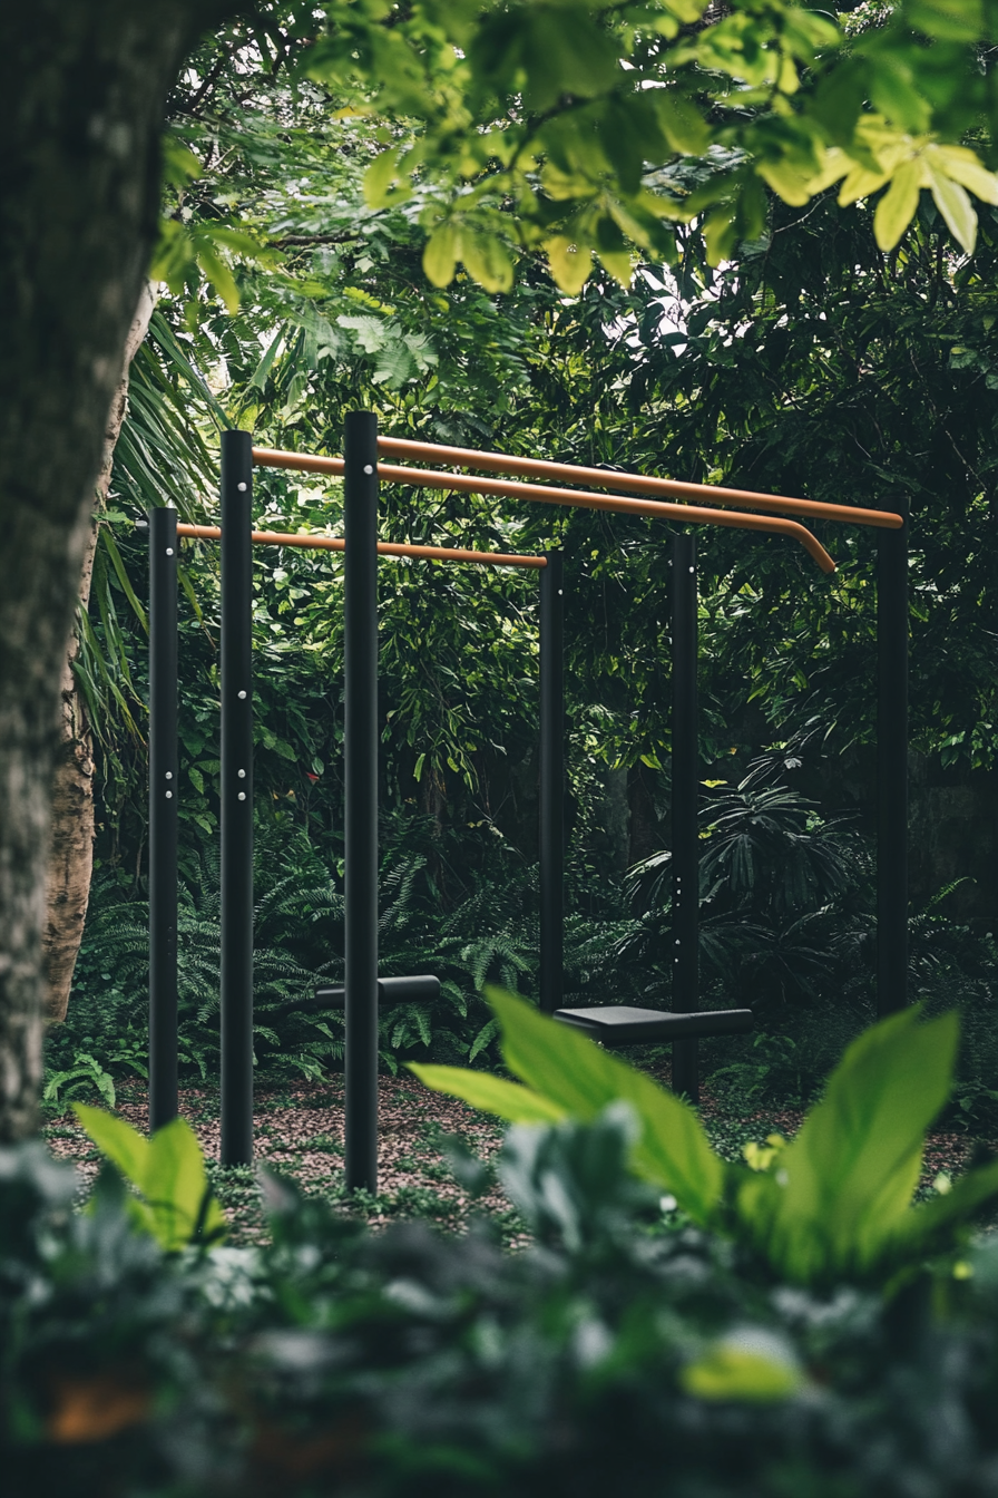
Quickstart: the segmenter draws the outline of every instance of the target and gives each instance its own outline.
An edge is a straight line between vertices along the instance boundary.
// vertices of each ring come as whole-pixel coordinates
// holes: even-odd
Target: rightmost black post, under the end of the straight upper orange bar
[[[908,1002],[908,524],[877,532],[877,1013]]]

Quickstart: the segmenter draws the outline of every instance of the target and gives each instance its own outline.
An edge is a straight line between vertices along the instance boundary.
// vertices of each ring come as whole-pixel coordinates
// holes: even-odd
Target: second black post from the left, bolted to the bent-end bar
[[[221,434],[221,1164],[253,1162],[253,446]]]

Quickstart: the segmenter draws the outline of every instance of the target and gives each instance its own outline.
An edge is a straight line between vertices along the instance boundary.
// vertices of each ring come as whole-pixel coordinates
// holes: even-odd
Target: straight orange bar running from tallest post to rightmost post
[[[408,437],[379,437],[379,452],[414,458],[422,463],[456,463],[491,473],[519,473],[528,478],[560,478],[572,484],[593,484],[624,494],[669,494],[673,499],[702,499],[708,505],[747,505],[750,509],[781,509],[811,520],[839,520],[853,526],[878,526],[899,530],[901,515],[886,509],[860,509],[853,505],[826,505],[817,499],[792,499],[787,494],[760,494],[751,488],[723,488],[720,484],[687,484],[675,478],[645,473],[613,473],[609,469],[582,467],[576,463],[551,463],[548,458],[519,458],[507,452],[477,452],[474,448],[449,448],[437,442],[410,442]]]

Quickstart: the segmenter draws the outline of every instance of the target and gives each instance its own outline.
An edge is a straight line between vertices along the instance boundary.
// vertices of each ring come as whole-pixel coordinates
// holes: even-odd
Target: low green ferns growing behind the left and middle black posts
[[[465,869],[449,863],[450,840],[429,819],[382,822],[380,969],[386,977],[435,972],[440,998],[388,1010],[380,1020],[382,1065],[431,1055],[438,1061],[494,1058],[497,1025],[489,983],[531,992],[539,969],[537,869],[506,860]],[[343,1014],[302,1007],[319,983],[343,981],[343,881],[317,840],[286,813],[257,816],[254,909],[254,1052],[268,1079],[320,1079],[343,1059]],[[441,884],[449,887],[449,899]],[[76,1097],[115,1101],[115,1083],[145,1077],[148,1058],[148,905],[114,870],[94,879],[90,915],[66,1023],[46,1040],[51,1104]],[[566,969],[579,1002],[637,983],[621,972],[616,947],[633,923],[603,900],[603,918],[572,915]],[[618,918],[613,918],[618,917]],[[218,1076],[221,962],[220,872],[214,840],[184,857],[178,909],[180,1065],[189,1082]]]

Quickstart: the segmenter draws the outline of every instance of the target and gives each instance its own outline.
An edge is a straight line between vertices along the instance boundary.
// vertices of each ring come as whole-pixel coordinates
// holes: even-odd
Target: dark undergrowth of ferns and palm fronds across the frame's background
[[[711,1091],[732,1107],[805,1106],[872,1017],[874,888],[868,840],[824,819],[790,782],[799,756],[757,759],[702,809],[703,1007],[751,1007],[748,1041],[705,1044]],[[293,809],[257,813],[254,1014],[263,1080],[319,1080],[343,1064],[343,1016],[302,1008],[317,983],[343,978],[343,881],[335,836]],[[534,993],[537,866],[495,848],[488,830],[441,828],[419,815],[382,825],[380,963],[386,975],[432,971],[434,1002],[382,1017],[382,1062],[495,1067],[488,983]],[[670,858],[600,876],[576,855],[567,878],[566,1002],[670,1007]],[[929,1011],[964,1016],[949,1121],[998,1124],[998,1023],[991,935],[947,918],[943,890],[910,921],[910,983]],[[46,1101],[100,1094],[145,1074],[147,906],[121,869],[99,872],[67,1022],[46,1041]],[[181,1076],[218,1076],[218,863],[189,836],[180,912]],[[652,1053],[654,1056],[655,1053]]]

